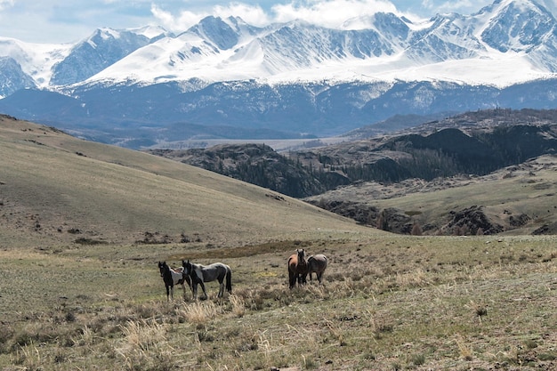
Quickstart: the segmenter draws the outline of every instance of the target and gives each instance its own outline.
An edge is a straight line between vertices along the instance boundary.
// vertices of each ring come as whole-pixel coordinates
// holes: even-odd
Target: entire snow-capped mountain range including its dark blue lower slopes
[[[0,37],[0,112],[130,148],[333,136],[394,115],[552,109],[557,20],[533,0],[339,28],[213,16],[180,34],[99,28],[77,44]]]

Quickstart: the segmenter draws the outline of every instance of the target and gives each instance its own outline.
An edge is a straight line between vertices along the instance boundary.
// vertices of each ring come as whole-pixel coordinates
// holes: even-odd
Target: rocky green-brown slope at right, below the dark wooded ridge
[[[532,158],[484,176],[392,185],[361,182],[306,198],[383,230],[429,235],[557,233],[557,158]]]

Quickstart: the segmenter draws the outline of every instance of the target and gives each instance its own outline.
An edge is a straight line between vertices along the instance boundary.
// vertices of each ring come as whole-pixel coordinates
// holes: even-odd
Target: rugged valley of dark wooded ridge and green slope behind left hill
[[[553,234],[556,123],[554,110],[492,109],[281,153],[265,144],[231,143],[149,153],[395,233],[409,234],[418,224],[430,235]],[[373,126],[359,133],[375,133]],[[490,187],[500,192],[484,198],[480,189]],[[547,206],[544,213],[529,206],[533,195]]]

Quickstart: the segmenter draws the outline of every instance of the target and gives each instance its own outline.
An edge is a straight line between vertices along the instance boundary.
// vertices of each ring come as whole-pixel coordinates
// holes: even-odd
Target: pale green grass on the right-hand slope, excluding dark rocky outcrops
[[[386,194],[393,196],[383,198]],[[392,185],[364,183],[309,199],[316,203],[350,200],[379,211],[394,207],[429,235],[455,234],[448,222],[454,213],[472,206],[480,207],[490,222],[502,226],[504,234],[529,235],[541,227],[545,227],[546,234],[555,234],[557,160],[549,155],[537,157],[481,177],[461,176],[428,183],[408,180]],[[513,219],[524,224],[517,225]]]

